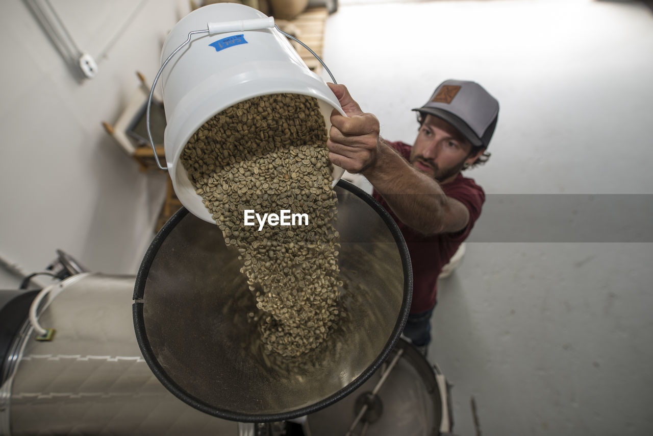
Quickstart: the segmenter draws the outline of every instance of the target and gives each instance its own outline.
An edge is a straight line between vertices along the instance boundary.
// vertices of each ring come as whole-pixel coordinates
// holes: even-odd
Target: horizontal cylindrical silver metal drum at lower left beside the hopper
[[[3,303],[11,317],[0,331],[21,319],[3,347],[0,435],[238,435],[238,423],[179,401],[151,373],[131,320],[134,282],[88,273],[63,280],[38,316],[56,330],[49,342],[35,341],[27,320],[33,292]]]

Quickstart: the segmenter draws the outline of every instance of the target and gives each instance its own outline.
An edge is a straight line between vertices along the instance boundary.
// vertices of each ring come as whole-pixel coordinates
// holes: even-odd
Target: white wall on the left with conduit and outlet
[[[51,3],[80,48],[106,52],[97,76],[80,81],[27,5],[3,1],[0,255],[29,273],[61,248],[92,271],[135,273],[165,175],[140,173],[101,122],[116,121],[138,86],[136,71],[153,80],[161,43],[187,2]],[[0,268],[0,288],[16,283]]]

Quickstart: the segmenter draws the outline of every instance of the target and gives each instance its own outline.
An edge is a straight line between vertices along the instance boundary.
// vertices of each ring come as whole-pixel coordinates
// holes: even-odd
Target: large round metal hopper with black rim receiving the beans
[[[133,314],[144,358],[170,392],[220,418],[288,420],[338,401],[387,358],[411,301],[406,243],[370,195],[342,180],[335,190],[349,318],[283,369],[266,363],[247,322],[256,301],[218,227],[181,209],[159,231],[136,277]]]

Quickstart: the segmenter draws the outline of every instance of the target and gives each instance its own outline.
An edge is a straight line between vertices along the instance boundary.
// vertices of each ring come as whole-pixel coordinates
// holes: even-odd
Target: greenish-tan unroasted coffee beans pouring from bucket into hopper
[[[215,115],[181,156],[225,243],[238,249],[259,309],[249,319],[266,350],[285,357],[319,346],[342,315],[326,141],[316,99],[273,94]],[[307,214],[308,225],[245,226],[246,210]]]

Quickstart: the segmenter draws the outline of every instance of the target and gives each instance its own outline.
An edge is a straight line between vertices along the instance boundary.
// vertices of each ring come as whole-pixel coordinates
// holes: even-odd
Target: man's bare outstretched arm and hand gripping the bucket
[[[379,137],[379,120],[360,110],[342,85],[329,84],[347,116],[331,114],[329,158],[350,173],[362,173],[407,226],[424,235],[463,229],[468,209],[447,197],[436,180],[413,168]]]

